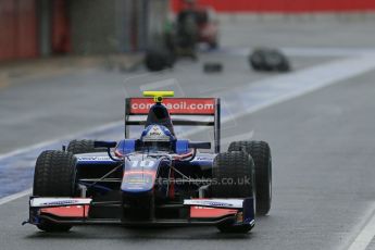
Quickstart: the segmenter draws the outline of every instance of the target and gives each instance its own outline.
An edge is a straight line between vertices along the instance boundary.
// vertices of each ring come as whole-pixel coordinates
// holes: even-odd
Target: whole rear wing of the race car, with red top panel
[[[129,126],[145,125],[152,98],[125,99],[125,138]],[[215,153],[220,152],[220,98],[165,98],[163,100],[175,126],[212,126]]]

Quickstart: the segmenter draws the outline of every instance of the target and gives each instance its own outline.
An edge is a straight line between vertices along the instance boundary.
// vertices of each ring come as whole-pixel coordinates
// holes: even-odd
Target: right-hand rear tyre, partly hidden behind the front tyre
[[[265,141],[235,141],[228,151],[245,150],[255,163],[257,214],[266,215],[272,202],[272,157]]]

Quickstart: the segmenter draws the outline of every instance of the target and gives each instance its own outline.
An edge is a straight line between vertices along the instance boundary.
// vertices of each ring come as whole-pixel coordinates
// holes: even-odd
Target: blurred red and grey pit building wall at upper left
[[[170,0],[0,0],[0,62],[141,51],[160,40]]]

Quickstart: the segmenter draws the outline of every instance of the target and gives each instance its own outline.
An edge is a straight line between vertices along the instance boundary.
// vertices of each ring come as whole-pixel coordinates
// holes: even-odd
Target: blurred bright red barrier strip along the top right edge
[[[184,0],[171,0],[176,12]],[[375,11],[374,0],[197,0],[198,5],[210,5],[217,12],[311,13]]]

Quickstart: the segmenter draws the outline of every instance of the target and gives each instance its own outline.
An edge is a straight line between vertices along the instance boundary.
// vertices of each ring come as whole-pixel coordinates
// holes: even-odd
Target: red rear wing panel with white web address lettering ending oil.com
[[[130,113],[148,114],[154,104],[151,98],[132,98]],[[171,114],[214,114],[214,98],[165,98],[163,105]]]

